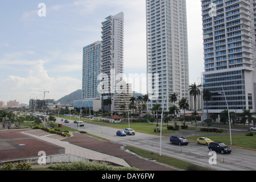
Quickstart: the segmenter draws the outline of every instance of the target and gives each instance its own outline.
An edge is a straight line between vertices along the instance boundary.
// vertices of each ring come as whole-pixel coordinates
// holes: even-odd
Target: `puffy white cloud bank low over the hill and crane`
[[[43,93],[31,90],[47,90],[46,98],[58,100],[59,98],[81,88],[81,81],[72,77],[50,77],[44,69],[44,62],[32,65],[27,77],[10,75],[0,82],[0,100],[16,99],[18,102],[28,104],[30,98],[43,98]],[[15,96],[15,98],[14,98]]]

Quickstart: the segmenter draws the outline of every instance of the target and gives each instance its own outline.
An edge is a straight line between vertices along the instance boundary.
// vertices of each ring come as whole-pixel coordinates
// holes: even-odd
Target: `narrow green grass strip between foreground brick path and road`
[[[197,166],[195,164],[184,162],[183,160],[171,158],[171,157],[168,157],[165,155],[159,156],[159,154],[155,154],[153,152],[146,151],[146,150],[141,150],[140,148],[137,148],[137,147],[126,146],[125,148],[127,148],[128,150],[130,150],[140,156],[143,156],[143,158],[154,159],[157,162],[167,164],[169,166],[174,166],[174,167],[177,167],[180,169],[189,170],[189,168],[193,167],[194,169],[197,169],[197,170],[205,170],[205,171],[209,170],[208,168],[204,168],[201,166]]]

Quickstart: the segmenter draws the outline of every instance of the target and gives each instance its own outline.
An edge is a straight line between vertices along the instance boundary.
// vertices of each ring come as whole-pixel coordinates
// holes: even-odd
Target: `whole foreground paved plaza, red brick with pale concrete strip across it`
[[[105,142],[84,134],[61,138],[40,130],[0,130],[0,162],[48,155],[71,154],[82,158],[136,167],[144,171],[174,171],[175,168],[148,161],[123,150],[123,146]]]

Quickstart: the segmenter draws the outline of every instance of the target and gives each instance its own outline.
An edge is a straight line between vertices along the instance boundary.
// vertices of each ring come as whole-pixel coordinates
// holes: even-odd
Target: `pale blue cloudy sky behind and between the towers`
[[[121,11],[124,72],[133,90],[145,94],[145,0],[0,0],[0,101],[28,104],[31,98],[43,99],[44,91],[47,99],[59,100],[81,89],[82,48],[101,40],[101,22]],[[189,82],[200,83],[200,0],[187,0],[187,23]]]

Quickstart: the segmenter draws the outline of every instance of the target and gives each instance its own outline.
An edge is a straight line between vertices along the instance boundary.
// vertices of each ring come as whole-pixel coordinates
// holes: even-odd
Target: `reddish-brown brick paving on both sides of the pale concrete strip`
[[[47,155],[65,154],[65,148],[56,146],[43,140],[29,137],[22,134],[26,130],[1,130],[0,131],[0,162],[1,160],[14,160],[38,157],[39,151],[45,151]],[[122,145],[98,140],[84,134],[73,133],[74,137],[64,139],[76,146],[88,148],[89,150],[101,152],[121,158],[131,167],[139,168],[143,171],[175,171],[175,169],[144,160],[122,150]],[[18,144],[26,144],[19,146]]]

